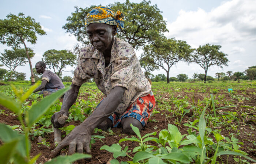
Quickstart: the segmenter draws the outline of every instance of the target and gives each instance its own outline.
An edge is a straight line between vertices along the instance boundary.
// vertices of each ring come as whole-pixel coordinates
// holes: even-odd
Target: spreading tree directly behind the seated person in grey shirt
[[[67,50],[48,50],[43,54],[45,64],[50,68],[53,68],[54,73],[61,77],[61,71],[66,68],[67,65],[73,66],[76,64],[76,55],[73,55]]]

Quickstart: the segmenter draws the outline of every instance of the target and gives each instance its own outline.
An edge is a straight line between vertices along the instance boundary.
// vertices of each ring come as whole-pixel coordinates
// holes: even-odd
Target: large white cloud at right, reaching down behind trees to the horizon
[[[185,40],[193,48],[207,43],[221,45],[221,51],[228,54],[229,66],[224,66],[223,69],[210,67],[207,72],[210,76],[217,72],[243,72],[248,66],[255,65],[256,60],[255,6],[255,0],[230,0],[209,12],[202,8],[197,8],[196,11],[180,10],[175,21],[167,22],[169,32],[165,36]],[[192,77],[195,72],[204,73],[204,70],[194,63],[178,63],[171,68],[170,77],[180,73]],[[161,69],[154,73],[165,71]]]

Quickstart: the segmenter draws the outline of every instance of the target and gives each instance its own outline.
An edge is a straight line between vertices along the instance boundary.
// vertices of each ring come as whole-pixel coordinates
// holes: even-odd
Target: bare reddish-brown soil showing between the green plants
[[[238,102],[237,100],[233,99],[230,97],[230,94],[226,93],[225,91],[218,91],[218,93],[214,94],[218,97],[218,95],[225,95],[225,98],[223,99],[223,103],[220,103],[218,108],[221,106],[226,106],[224,105],[224,101],[234,101],[235,104],[237,105],[251,105],[251,106],[255,106],[256,105],[256,99],[255,99],[255,95],[253,94],[249,94],[249,93],[253,93],[255,90],[253,89],[248,89],[246,90],[246,94],[242,94],[241,91],[238,90],[237,94],[243,95],[244,97],[248,97],[249,100],[243,100],[242,102]],[[180,97],[181,99],[185,96],[189,97],[189,102],[192,103],[192,97],[193,97],[193,92],[191,93],[185,93],[184,91],[180,91],[178,93],[174,93],[174,95],[172,94],[168,94],[168,93],[159,93],[156,92],[154,93],[155,95],[162,95],[162,99],[165,100],[169,100],[172,96],[174,97]],[[84,98],[86,99],[87,95],[83,96],[83,97],[79,97],[79,99]],[[195,94],[195,102],[197,102],[197,99],[199,100],[203,100],[204,97],[210,97],[210,94],[208,91],[206,91],[206,93],[196,93]],[[172,105],[172,108],[175,109],[175,106]],[[2,112],[0,112],[0,123],[4,123],[7,125],[20,125],[17,117],[8,109],[4,108],[3,106],[0,106],[0,109],[3,109]],[[150,118],[150,122],[147,123],[147,125],[141,130],[141,134],[142,136],[144,136],[147,133],[151,133],[151,132],[157,132],[157,136],[159,134],[159,132],[162,129],[167,129],[168,123],[169,124],[174,124],[176,125],[174,122],[176,120],[177,117],[175,117],[173,115],[173,113],[168,112],[167,110],[159,110],[158,109],[158,105],[155,106],[155,109],[158,110],[160,113],[158,114],[154,114],[151,118]],[[247,108],[239,108],[239,113],[241,114],[243,111],[245,111],[248,113],[249,109]],[[165,117],[165,114],[163,113],[165,112],[165,114],[169,115],[169,116],[174,116],[174,117]],[[224,111],[223,111],[224,112]],[[227,112],[227,111],[225,111]],[[232,111],[234,112],[234,111]],[[188,122],[189,117],[191,117],[193,115],[193,113],[187,113],[186,116],[182,119],[181,125],[178,126],[178,128],[180,129],[181,134],[188,134],[187,132],[187,126],[184,126],[183,124]],[[180,120],[181,117],[178,117],[178,120]],[[245,118],[242,118],[244,120],[246,120]],[[152,121],[153,120],[153,121]],[[192,121],[192,120],[189,120]],[[243,142],[244,145],[241,147],[241,149],[243,151],[245,151],[246,153],[249,154],[249,156],[253,159],[256,159],[256,152],[253,151],[253,149],[256,149],[256,146],[253,145],[252,142],[250,141],[255,141],[256,139],[256,130],[254,130],[256,128],[255,124],[243,124],[241,120],[239,120],[240,122],[240,133],[244,132],[244,135],[239,135],[236,136],[236,138],[239,139],[239,142]],[[79,125],[80,122],[79,121],[73,121],[70,122],[68,124],[66,124],[65,126],[68,125]],[[238,125],[238,122],[236,122],[236,120],[233,121],[233,124]],[[49,127],[51,128],[51,127]],[[213,127],[211,127],[213,129]],[[234,133],[237,134],[237,130],[234,131],[232,129],[226,130],[224,127],[221,127],[221,134],[224,136],[229,136],[229,134]],[[111,161],[111,159],[113,159],[113,153],[110,153],[108,151],[102,150],[100,151],[99,149],[103,146],[103,145],[108,145],[111,146],[112,144],[118,143],[118,141],[121,138],[124,138],[126,136],[131,137],[132,135],[128,135],[128,134],[124,134],[123,133],[123,129],[122,128],[112,128],[113,133],[109,133],[106,134],[105,132],[97,132],[94,133],[94,135],[103,135],[106,137],[105,139],[101,140],[96,140],[96,142],[94,144],[92,144],[91,146],[91,155],[92,158],[91,159],[87,159],[85,161],[83,161],[83,163],[88,163],[88,164],[95,164],[95,163],[99,163],[99,164],[106,164],[109,163],[109,161]],[[245,134],[248,133],[250,135]],[[63,133],[64,134],[64,133]],[[37,160],[37,163],[44,163],[45,161],[48,161],[50,152],[54,149],[54,142],[53,142],[53,133],[47,133],[44,134],[44,138],[46,140],[46,142],[49,142],[50,146],[47,147],[45,145],[42,145],[41,147],[38,147],[38,141],[35,138],[34,140],[31,140],[31,157],[37,155],[38,153],[41,153],[41,156],[39,157],[39,159]],[[213,137],[214,138],[214,137]],[[155,145],[157,146],[156,143],[154,142],[150,142],[151,145]],[[128,150],[133,150],[133,148],[139,146],[139,144],[137,142],[131,142],[131,141],[125,141],[122,142],[121,147],[124,148],[126,145],[129,146]],[[248,149],[250,148],[251,151]],[[130,154],[132,155],[132,154]],[[118,161],[128,161],[131,160],[128,157],[118,157],[117,158]],[[226,156],[222,157],[222,160],[224,163],[226,163]],[[234,163],[234,160],[232,157],[229,157],[228,159],[228,163]]]

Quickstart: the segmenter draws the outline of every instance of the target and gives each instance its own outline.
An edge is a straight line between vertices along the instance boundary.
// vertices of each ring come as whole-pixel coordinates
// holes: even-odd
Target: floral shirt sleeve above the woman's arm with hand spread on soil
[[[133,68],[136,67],[135,52],[132,47],[124,48],[118,53],[114,71],[110,77],[112,88],[116,86],[130,88],[133,79]]]

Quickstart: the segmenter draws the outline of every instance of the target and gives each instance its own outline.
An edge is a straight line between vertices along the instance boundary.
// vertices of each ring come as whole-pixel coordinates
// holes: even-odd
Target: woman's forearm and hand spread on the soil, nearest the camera
[[[124,87],[114,87],[98,108],[88,118],[86,118],[82,124],[76,126],[72,132],[58,144],[58,146],[52,151],[51,157],[55,157],[59,151],[66,146],[69,146],[69,155],[75,152],[83,153],[83,150],[85,150],[86,153],[90,153],[89,145],[91,133],[99,124],[101,124],[101,122],[114,113],[123,99],[125,90],[126,88]]]

